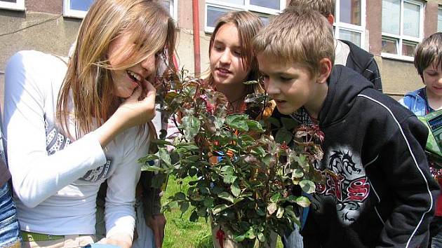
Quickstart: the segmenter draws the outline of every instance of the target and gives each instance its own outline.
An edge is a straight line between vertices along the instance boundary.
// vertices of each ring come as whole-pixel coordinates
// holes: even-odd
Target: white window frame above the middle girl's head
[[[283,11],[284,8],[286,8],[286,0],[279,0],[279,10],[273,9],[273,8],[265,8],[261,6],[255,6],[253,4],[250,4],[250,0],[243,0],[244,4],[230,4],[225,3],[220,0],[206,0],[206,4],[204,6],[204,32],[206,33],[213,33],[213,30],[215,27],[208,27],[207,25],[207,9],[208,7],[215,7],[215,8],[223,8],[230,11],[250,11],[253,12],[259,16],[263,17],[269,17],[271,15],[278,15]],[[287,0],[289,1],[289,0]]]

